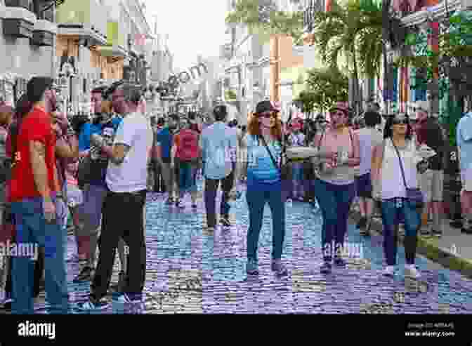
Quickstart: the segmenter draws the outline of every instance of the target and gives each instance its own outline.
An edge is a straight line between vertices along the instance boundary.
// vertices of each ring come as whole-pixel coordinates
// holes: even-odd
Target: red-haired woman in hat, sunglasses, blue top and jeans
[[[257,248],[262,228],[264,206],[269,204],[273,220],[272,270],[279,276],[287,275],[282,263],[285,237],[285,205],[282,200],[280,158],[282,155],[282,126],[279,111],[270,101],[259,102],[256,113],[249,120],[248,133],[242,140],[247,149],[247,274],[258,274]]]

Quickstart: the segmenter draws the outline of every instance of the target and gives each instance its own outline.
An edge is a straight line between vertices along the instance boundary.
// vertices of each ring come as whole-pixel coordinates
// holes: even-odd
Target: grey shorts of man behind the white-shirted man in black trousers
[[[107,195],[107,188],[105,186],[89,185],[84,189],[84,203],[79,205],[79,220],[84,223],[84,227],[79,233],[79,236],[89,236],[96,232],[100,227],[102,221],[103,201]]]

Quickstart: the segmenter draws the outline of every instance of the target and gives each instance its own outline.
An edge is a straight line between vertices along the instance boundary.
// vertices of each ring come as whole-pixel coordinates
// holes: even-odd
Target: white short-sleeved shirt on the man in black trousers
[[[147,189],[147,163],[152,147],[150,122],[140,112],[127,115],[119,124],[113,144],[124,144],[130,149],[122,164],[108,161],[108,188],[113,192],[137,192]]]

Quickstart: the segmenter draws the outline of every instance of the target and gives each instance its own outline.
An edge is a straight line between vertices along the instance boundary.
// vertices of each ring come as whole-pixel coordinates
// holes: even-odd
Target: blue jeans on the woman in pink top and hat
[[[354,183],[349,185],[334,185],[320,179],[315,179],[315,196],[320,205],[323,218],[321,244],[323,259],[332,260],[343,247],[344,237],[348,231],[348,216],[350,204],[355,196]],[[334,244],[333,244],[334,241]]]

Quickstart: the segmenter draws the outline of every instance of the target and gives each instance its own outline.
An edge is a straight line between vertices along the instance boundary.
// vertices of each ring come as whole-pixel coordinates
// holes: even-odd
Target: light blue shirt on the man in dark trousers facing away
[[[231,174],[237,150],[237,133],[234,128],[216,121],[202,131],[200,147],[206,178],[223,179]]]

